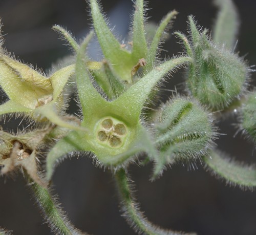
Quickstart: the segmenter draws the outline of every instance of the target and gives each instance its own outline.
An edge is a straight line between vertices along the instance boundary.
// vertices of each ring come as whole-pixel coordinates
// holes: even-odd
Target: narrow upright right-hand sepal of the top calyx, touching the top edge
[[[137,0],[135,3],[133,19],[133,51],[132,56],[135,62],[140,58],[145,58],[147,54],[147,45],[144,30],[144,11],[143,0]]]

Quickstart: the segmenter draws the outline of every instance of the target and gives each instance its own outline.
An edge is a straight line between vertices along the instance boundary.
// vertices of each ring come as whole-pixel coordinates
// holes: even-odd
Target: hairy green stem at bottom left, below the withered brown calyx
[[[56,203],[56,196],[52,197],[47,188],[41,187],[39,184],[32,182],[31,179],[29,179],[29,181],[31,181],[30,188],[39,208],[42,211],[42,215],[54,234],[87,234],[76,229],[71,222],[67,220],[65,212],[63,212],[63,210]]]

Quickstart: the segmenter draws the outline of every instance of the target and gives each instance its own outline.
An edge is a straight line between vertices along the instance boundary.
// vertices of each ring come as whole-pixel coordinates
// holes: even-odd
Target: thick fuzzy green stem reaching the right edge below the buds
[[[253,189],[256,186],[256,168],[246,166],[231,160],[220,151],[211,151],[210,157],[203,158],[206,168],[230,185],[239,186],[242,189]]]

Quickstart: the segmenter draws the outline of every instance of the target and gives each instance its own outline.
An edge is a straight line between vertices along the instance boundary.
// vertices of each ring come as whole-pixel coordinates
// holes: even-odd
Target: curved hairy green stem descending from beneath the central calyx
[[[181,234],[195,234],[195,233],[184,233],[172,230],[165,230],[158,226],[153,225],[148,221],[143,213],[139,210],[138,203],[132,197],[130,180],[126,176],[125,170],[120,169],[115,174],[117,188],[119,191],[120,198],[122,200],[122,211],[133,229],[139,234],[150,234],[150,235],[181,235]]]

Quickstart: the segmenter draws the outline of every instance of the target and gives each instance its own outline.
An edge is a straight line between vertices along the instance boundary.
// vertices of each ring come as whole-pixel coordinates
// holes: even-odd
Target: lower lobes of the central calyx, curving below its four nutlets
[[[118,148],[106,146],[106,144],[99,142],[95,130],[89,133],[72,131],[59,140],[48,153],[46,159],[47,180],[51,179],[59,160],[75,151],[92,152],[97,158],[97,165],[112,170],[127,166],[135,156],[141,153],[146,153],[153,159],[156,155],[156,149],[150,133],[143,126],[127,131],[130,132],[129,138]]]

